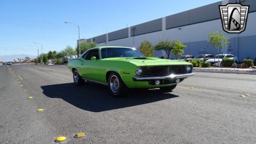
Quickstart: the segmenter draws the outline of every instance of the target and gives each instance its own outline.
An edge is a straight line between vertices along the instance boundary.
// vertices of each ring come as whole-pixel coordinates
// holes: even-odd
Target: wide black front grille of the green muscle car
[[[192,72],[186,72],[186,67],[188,65],[166,65],[166,66],[149,66],[149,67],[142,67],[143,73],[141,76],[167,76],[170,74],[187,74]]]

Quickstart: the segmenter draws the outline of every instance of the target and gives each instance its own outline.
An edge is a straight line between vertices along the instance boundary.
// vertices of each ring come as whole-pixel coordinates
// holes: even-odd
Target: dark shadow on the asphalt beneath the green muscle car
[[[92,112],[127,108],[179,97],[159,90],[132,90],[124,97],[115,98],[108,92],[107,86],[94,83],[86,83],[83,86],[75,86],[74,83],[52,84],[41,88],[47,97],[60,98],[77,108]]]

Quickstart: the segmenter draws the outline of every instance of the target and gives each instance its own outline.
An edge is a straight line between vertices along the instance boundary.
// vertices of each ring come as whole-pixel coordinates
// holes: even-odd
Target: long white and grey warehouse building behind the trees
[[[250,5],[246,30],[243,33],[229,34],[223,31],[219,5],[227,3]],[[152,42],[152,45],[157,44],[160,40],[180,40],[187,45],[184,54],[196,56],[197,54],[217,53],[217,49],[207,42],[207,34],[212,31],[223,31],[230,38],[228,47],[221,50],[223,53],[234,54],[239,61],[244,58],[255,60],[256,1],[224,0],[104,35],[87,38],[84,41],[95,42],[98,46],[118,45],[138,48],[143,40]],[[163,51],[155,51],[154,55],[165,56]]]

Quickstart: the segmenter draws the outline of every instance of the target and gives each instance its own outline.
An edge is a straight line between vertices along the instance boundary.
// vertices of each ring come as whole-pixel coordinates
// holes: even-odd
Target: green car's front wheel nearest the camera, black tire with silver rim
[[[116,72],[112,72],[111,74],[109,74],[108,88],[109,92],[111,93],[111,95],[113,95],[113,97],[122,97],[127,91],[127,87],[122,81],[122,78]]]

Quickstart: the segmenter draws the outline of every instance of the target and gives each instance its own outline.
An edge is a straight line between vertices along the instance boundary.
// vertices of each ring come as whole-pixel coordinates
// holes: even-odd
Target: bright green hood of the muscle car
[[[106,60],[127,61],[137,66],[144,65],[192,65],[184,60],[166,60],[161,58],[107,58]]]

